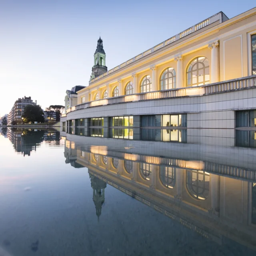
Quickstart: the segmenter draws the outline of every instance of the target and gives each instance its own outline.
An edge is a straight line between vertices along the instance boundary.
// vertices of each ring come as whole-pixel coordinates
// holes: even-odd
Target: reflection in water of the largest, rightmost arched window
[[[209,196],[210,174],[204,171],[186,171],[186,186],[191,196],[205,200]]]

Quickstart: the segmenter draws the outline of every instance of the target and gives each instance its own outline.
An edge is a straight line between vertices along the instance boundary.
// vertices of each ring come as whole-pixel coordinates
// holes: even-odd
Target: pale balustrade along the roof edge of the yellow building
[[[126,62],[116,66],[115,68],[108,70],[104,74],[90,80],[89,84],[92,84],[93,82],[96,82],[97,80],[100,80],[101,78],[108,76],[112,73],[118,72],[118,70],[120,70],[121,68],[131,65],[132,63],[140,60],[143,57],[150,56],[154,52],[156,52],[164,47],[170,47],[170,46],[172,46],[172,44],[174,44],[178,40],[184,38],[185,36],[193,34],[194,32],[196,32],[202,28],[205,28],[206,26],[209,26],[210,24],[213,24],[214,22],[219,21],[219,23],[222,23],[226,20],[228,20],[228,17],[223,12],[218,12],[218,13],[214,14],[213,16],[211,16],[210,18],[207,18],[206,20],[199,22],[198,24],[180,32],[179,34],[176,34],[175,36],[172,36],[171,38],[165,40],[164,42],[146,50],[145,52],[142,52],[141,54],[131,58],[130,60],[127,60]]]

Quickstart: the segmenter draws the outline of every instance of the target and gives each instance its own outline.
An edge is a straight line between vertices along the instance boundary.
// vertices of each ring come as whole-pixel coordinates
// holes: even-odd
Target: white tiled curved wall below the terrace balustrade
[[[145,100],[76,110],[67,120],[188,113],[188,128],[235,128],[235,110],[256,109],[256,88],[204,96]]]

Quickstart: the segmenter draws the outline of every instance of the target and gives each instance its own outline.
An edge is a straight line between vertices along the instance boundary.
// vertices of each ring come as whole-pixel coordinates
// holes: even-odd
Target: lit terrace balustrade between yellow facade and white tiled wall
[[[186,96],[202,96],[215,93],[223,93],[234,90],[248,89],[251,87],[256,87],[256,75],[246,76],[242,78],[236,78],[232,80],[227,80],[223,82],[217,82],[213,84],[206,84],[202,86],[192,86],[192,87],[183,87],[175,88],[170,90],[162,90],[155,92],[142,92],[137,94],[123,95],[118,97],[94,100],[90,102],[85,102],[66,110],[66,114],[72,111],[91,108],[95,106],[104,106],[108,104],[119,104],[127,102],[135,102],[142,100],[157,100],[157,99],[166,99],[166,98],[175,98],[175,97],[186,97]],[[65,117],[66,114],[61,115]]]

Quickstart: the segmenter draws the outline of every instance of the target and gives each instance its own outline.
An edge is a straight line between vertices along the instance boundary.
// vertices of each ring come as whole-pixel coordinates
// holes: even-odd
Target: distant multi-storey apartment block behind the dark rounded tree
[[[12,121],[22,123],[21,116],[24,114],[24,108],[28,105],[36,105],[36,103],[31,100],[31,97],[24,96],[24,98],[19,98],[16,100],[10,113],[8,114],[8,125],[10,125]]]

